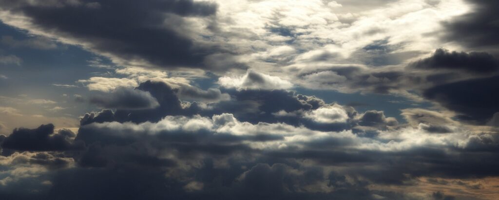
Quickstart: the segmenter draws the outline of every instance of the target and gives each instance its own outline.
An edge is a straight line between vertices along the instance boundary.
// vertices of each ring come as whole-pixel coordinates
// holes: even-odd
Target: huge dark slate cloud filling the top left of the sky
[[[97,53],[128,64],[159,67],[204,67],[204,59],[221,49],[196,43],[183,17],[210,17],[212,2],[193,0],[89,0],[49,3],[0,1],[3,10],[27,17],[29,28],[81,43]]]

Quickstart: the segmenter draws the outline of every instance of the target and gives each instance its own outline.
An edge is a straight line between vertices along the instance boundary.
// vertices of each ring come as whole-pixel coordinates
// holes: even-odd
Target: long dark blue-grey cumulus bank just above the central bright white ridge
[[[126,122],[132,121],[135,123],[140,122],[157,122],[167,115],[186,115],[192,116],[200,114],[202,116],[213,116],[214,114],[232,113],[242,121],[251,123],[258,122],[277,122],[285,120],[285,118],[276,118],[273,113],[278,111],[293,112],[297,110],[310,110],[317,109],[324,105],[324,102],[316,97],[309,97],[305,95],[296,95],[294,92],[285,90],[236,90],[225,89],[219,92],[217,90],[199,90],[191,88],[190,90],[172,89],[170,86],[163,82],[146,81],[141,83],[136,90],[146,91],[152,97],[157,99],[159,106],[149,109],[117,109],[115,112],[111,110],[104,110],[99,113],[89,113],[81,120],[81,125],[89,124],[92,122]],[[183,91],[184,90],[184,91]],[[213,91],[213,92],[210,92]],[[230,99],[208,105],[193,102],[191,104],[183,105],[180,97],[185,97],[187,94],[191,98],[196,97],[215,100],[213,98],[220,98],[219,100]],[[212,94],[215,94],[212,96]],[[208,98],[208,99],[206,99]],[[117,99],[121,100],[121,99]],[[287,123],[296,124],[297,121],[289,118]],[[324,125],[326,126],[326,125]]]

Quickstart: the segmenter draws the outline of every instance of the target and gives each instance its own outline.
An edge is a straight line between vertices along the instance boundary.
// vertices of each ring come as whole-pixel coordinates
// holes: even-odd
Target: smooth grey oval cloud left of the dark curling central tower
[[[89,102],[103,108],[147,109],[159,106],[149,92],[132,88],[118,88],[111,94],[90,97]]]

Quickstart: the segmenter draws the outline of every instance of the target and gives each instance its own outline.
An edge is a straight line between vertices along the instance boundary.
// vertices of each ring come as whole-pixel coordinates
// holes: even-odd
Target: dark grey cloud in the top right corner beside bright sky
[[[447,33],[444,39],[467,47],[492,48],[499,44],[499,13],[497,0],[467,0],[472,11],[444,22]]]

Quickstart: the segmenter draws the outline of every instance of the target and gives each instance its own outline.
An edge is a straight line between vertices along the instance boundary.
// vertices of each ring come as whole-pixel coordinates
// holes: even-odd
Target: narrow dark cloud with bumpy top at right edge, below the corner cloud
[[[409,64],[418,69],[464,70],[476,73],[493,73],[499,70],[499,60],[487,52],[449,52],[437,49],[431,57]]]

